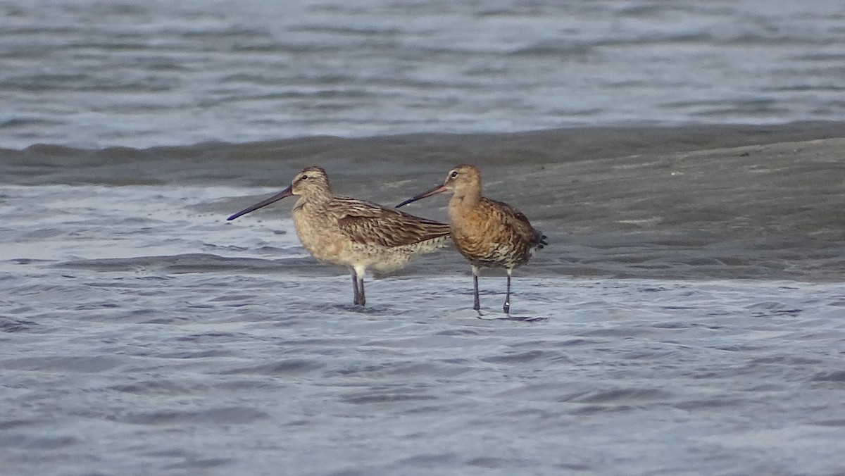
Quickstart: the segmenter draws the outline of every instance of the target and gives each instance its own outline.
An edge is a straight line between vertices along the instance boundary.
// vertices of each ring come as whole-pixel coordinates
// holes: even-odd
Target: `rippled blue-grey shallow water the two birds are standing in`
[[[512,309],[546,319],[495,320],[504,279],[482,276],[479,320],[468,266],[444,251],[368,279],[360,311],[286,211],[224,222],[270,191],[3,188],[4,471],[845,469],[841,283],[539,260]]]

